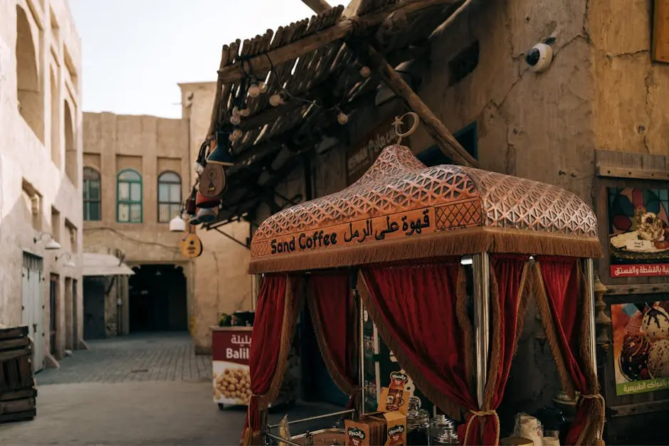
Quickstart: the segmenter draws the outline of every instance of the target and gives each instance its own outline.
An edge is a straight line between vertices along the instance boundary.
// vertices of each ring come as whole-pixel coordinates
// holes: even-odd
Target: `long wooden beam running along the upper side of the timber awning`
[[[288,62],[288,60],[293,60],[301,55],[311,53],[329,43],[352,36],[357,31],[362,31],[362,29],[379,26],[391,13],[412,14],[416,11],[421,11],[422,9],[431,8],[433,6],[446,6],[457,3],[458,1],[460,0],[401,1],[374,14],[367,14],[363,17],[354,17],[354,19],[347,18],[334,26],[330,26],[330,28],[313,33],[311,36],[307,36],[272,51],[253,56],[252,58],[248,58],[247,60],[244,60],[243,68],[241,60],[231,63],[231,65],[218,70],[218,82],[231,83],[240,80],[246,76],[244,72],[245,69],[247,72],[253,71],[253,73],[264,73],[270,70],[272,65],[277,66],[280,63]]]

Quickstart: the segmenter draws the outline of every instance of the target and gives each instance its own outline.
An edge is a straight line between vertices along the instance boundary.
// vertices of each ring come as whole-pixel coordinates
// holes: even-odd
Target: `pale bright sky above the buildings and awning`
[[[83,110],[159,117],[181,117],[177,83],[216,80],[224,44],[313,15],[301,0],[69,3],[82,41]]]

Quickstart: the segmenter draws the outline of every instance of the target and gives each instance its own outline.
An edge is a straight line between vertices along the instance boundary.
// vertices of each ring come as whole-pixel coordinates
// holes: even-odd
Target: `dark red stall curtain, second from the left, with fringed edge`
[[[318,346],[334,383],[351,398],[358,386],[358,311],[349,272],[312,274],[307,293]]]

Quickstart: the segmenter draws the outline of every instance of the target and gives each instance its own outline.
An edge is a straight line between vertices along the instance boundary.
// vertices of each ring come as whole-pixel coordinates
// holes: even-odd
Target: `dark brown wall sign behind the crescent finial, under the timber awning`
[[[372,132],[367,133],[349,148],[346,154],[348,184],[353,184],[364,175],[383,149],[397,142],[393,122],[395,116],[403,115],[404,112],[406,112],[406,107],[399,105],[393,113],[384,117]],[[403,144],[406,144],[406,139]]]

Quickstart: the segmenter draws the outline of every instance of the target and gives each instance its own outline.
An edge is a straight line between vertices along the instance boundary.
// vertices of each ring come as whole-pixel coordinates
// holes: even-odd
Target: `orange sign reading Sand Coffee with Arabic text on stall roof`
[[[312,252],[413,237],[434,232],[434,223],[433,207],[367,218],[366,220],[273,238],[270,242],[270,254]]]

